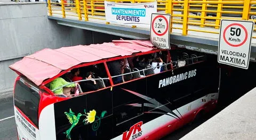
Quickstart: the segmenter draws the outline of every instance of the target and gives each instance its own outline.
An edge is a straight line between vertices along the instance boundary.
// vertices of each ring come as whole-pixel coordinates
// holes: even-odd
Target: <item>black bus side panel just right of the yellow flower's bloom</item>
[[[102,92],[88,94],[86,104],[86,112],[91,112],[91,110],[96,112],[93,123],[86,125],[86,139],[110,139],[113,136],[113,108],[110,88]]]

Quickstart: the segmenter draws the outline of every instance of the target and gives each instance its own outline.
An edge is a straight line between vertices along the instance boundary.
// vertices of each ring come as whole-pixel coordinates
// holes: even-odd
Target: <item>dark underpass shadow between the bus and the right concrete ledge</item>
[[[237,68],[228,65],[217,63],[217,55],[207,55],[207,59],[215,59],[215,64],[221,68],[220,80],[220,94],[218,99],[217,108],[203,116],[201,120],[185,125],[182,128],[175,130],[175,132],[164,137],[163,139],[180,139],[188,134],[191,130],[204,123],[216,115],[221,110],[225,109],[229,104],[233,103],[244,94],[252,90],[256,86],[256,63],[250,62],[248,69]]]

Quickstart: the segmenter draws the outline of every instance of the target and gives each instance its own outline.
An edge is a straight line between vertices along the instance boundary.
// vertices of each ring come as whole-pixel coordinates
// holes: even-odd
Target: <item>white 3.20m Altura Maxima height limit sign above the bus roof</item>
[[[170,19],[169,14],[151,15],[150,40],[158,48],[170,49]]]

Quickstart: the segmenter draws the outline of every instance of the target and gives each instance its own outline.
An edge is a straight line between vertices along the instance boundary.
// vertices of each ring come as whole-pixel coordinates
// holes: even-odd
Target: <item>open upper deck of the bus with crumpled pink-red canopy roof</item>
[[[176,46],[172,49],[178,50]],[[37,86],[41,86],[41,88],[46,91],[49,91],[49,86],[45,87],[44,85],[47,85],[57,77],[61,76],[66,81],[70,82],[59,86],[57,89],[52,89],[52,92],[49,92],[54,93],[55,90],[59,90],[71,83],[91,81],[85,78],[85,73],[81,74],[83,75],[83,79],[78,78],[78,80],[72,81],[72,77],[74,76],[72,69],[75,71],[79,70],[79,73],[86,70],[87,72],[90,71],[92,80],[97,81],[99,88],[106,88],[106,85],[113,86],[116,84],[115,81],[113,82],[113,78],[122,77],[121,81],[126,82],[179,66],[200,62],[205,59],[205,56],[198,54],[199,53],[195,51],[193,54],[188,54],[180,50],[178,54],[172,54],[174,57],[171,60],[170,51],[157,49],[148,40],[113,40],[113,43],[62,47],[55,50],[43,49],[33,55],[24,57],[20,62],[11,65],[10,68],[19,75],[26,76],[30,81]],[[159,57],[160,60],[156,60],[156,57]],[[118,63],[126,64],[121,64],[123,65],[121,66],[121,73],[113,75],[110,71],[110,62],[115,62],[116,60],[119,60]],[[122,60],[124,60],[124,62],[122,62]],[[160,63],[161,66],[154,65],[156,63],[158,65]],[[129,66],[129,64],[132,66]],[[137,66],[134,67],[136,64]],[[141,67],[141,65],[143,67]],[[38,69],[38,67],[40,69]],[[90,68],[86,69],[86,67]],[[94,69],[94,71],[92,69]],[[94,73],[95,71],[97,71],[97,74]],[[79,92],[83,92],[81,85]]]

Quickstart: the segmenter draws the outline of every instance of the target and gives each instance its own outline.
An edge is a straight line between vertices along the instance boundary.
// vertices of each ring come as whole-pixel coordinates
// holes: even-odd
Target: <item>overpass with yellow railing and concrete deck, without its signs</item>
[[[109,0],[112,1],[112,0]],[[139,3],[136,0],[132,3]],[[118,2],[119,1],[114,1]],[[143,2],[151,2],[145,0]],[[87,6],[85,6],[85,4]],[[113,34],[115,36],[132,39],[149,39],[150,25],[118,25],[106,22],[104,1],[78,1],[75,3],[61,3],[56,6],[49,4],[49,19],[56,20],[58,24],[69,27],[81,28],[91,31]],[[215,4],[215,5],[214,5]],[[232,5],[232,6],[230,6]],[[256,1],[250,0],[245,3],[243,0],[227,1],[157,1],[158,13],[170,13],[171,31],[170,42],[179,47],[217,54],[219,41],[219,27],[221,19],[252,20],[256,18]],[[183,8],[187,7],[187,8]],[[197,7],[197,8],[195,8]],[[218,7],[218,9],[217,9]],[[94,8],[94,12],[93,12]],[[98,9],[97,9],[98,8]],[[87,12],[84,12],[87,11]],[[98,12],[97,12],[98,11]],[[197,15],[201,13],[201,15]],[[207,15],[215,13],[217,15]],[[226,16],[225,14],[236,14]],[[249,18],[250,17],[250,18]],[[255,16],[256,17],[256,16]],[[187,19],[187,20],[185,20]],[[256,28],[254,26],[251,60],[256,61]]]

